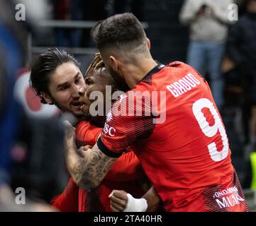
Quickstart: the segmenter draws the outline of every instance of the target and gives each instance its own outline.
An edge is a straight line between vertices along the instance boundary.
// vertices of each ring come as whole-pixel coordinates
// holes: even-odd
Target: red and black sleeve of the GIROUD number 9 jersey
[[[150,136],[155,128],[150,95],[150,92],[142,95],[131,90],[114,103],[97,141],[105,155],[121,157],[128,146]]]

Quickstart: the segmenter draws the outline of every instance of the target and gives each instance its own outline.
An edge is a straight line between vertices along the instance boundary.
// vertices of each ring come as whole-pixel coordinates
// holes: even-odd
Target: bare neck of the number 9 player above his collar
[[[157,63],[152,59],[141,59],[137,64],[126,64],[123,67],[123,77],[130,89],[133,89]]]

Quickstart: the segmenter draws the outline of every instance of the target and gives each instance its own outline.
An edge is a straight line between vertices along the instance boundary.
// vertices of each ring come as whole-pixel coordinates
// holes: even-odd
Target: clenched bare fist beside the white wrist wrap
[[[128,203],[128,196],[126,191],[113,190],[108,196],[111,199],[110,208],[113,212],[123,212]]]

